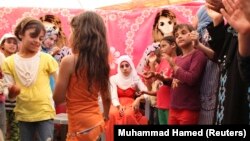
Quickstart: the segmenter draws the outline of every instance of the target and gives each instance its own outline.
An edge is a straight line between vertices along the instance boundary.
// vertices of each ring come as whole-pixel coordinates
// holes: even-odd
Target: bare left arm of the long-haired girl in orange
[[[74,56],[69,55],[62,59],[59,67],[59,74],[56,78],[56,73],[53,76],[56,78],[56,85],[54,90],[53,99],[55,104],[60,104],[65,101],[66,91],[69,85],[71,73],[74,71]]]

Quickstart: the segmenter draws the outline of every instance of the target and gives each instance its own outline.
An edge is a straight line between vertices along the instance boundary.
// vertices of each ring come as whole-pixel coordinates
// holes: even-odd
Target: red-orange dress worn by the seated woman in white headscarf
[[[120,105],[125,106],[124,115],[120,115],[119,110],[111,105],[109,111],[109,120],[106,122],[106,141],[114,140],[114,125],[146,125],[148,119],[140,112],[135,111],[132,103],[135,99],[135,90],[128,88],[122,90],[117,87],[117,94]]]

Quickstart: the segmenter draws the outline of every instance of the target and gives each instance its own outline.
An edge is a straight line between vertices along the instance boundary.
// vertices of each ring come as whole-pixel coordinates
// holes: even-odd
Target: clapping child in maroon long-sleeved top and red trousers
[[[200,112],[200,82],[207,58],[197,48],[198,33],[189,24],[178,24],[173,30],[175,41],[183,55],[175,61],[167,59],[173,69],[169,124],[197,124]],[[178,81],[176,81],[178,80]],[[174,84],[178,84],[177,87]]]

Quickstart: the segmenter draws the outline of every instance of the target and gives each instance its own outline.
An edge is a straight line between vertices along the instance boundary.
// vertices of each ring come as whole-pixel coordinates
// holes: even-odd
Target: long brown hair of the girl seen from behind
[[[76,76],[86,77],[88,91],[97,86],[109,92],[108,44],[105,24],[98,14],[86,11],[71,21],[72,51],[78,54]]]

